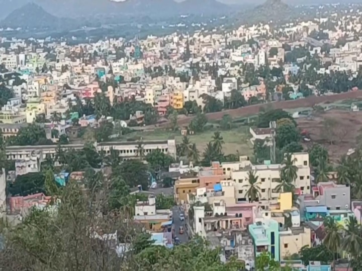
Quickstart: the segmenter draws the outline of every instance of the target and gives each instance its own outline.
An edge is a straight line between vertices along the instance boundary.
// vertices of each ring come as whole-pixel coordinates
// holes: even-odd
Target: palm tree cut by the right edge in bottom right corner
[[[348,262],[347,271],[351,264],[352,259],[356,259],[359,255],[359,251],[362,250],[362,228],[358,224],[355,216],[350,216],[347,220],[345,236],[343,238],[342,247],[344,251],[349,253],[350,260]]]

